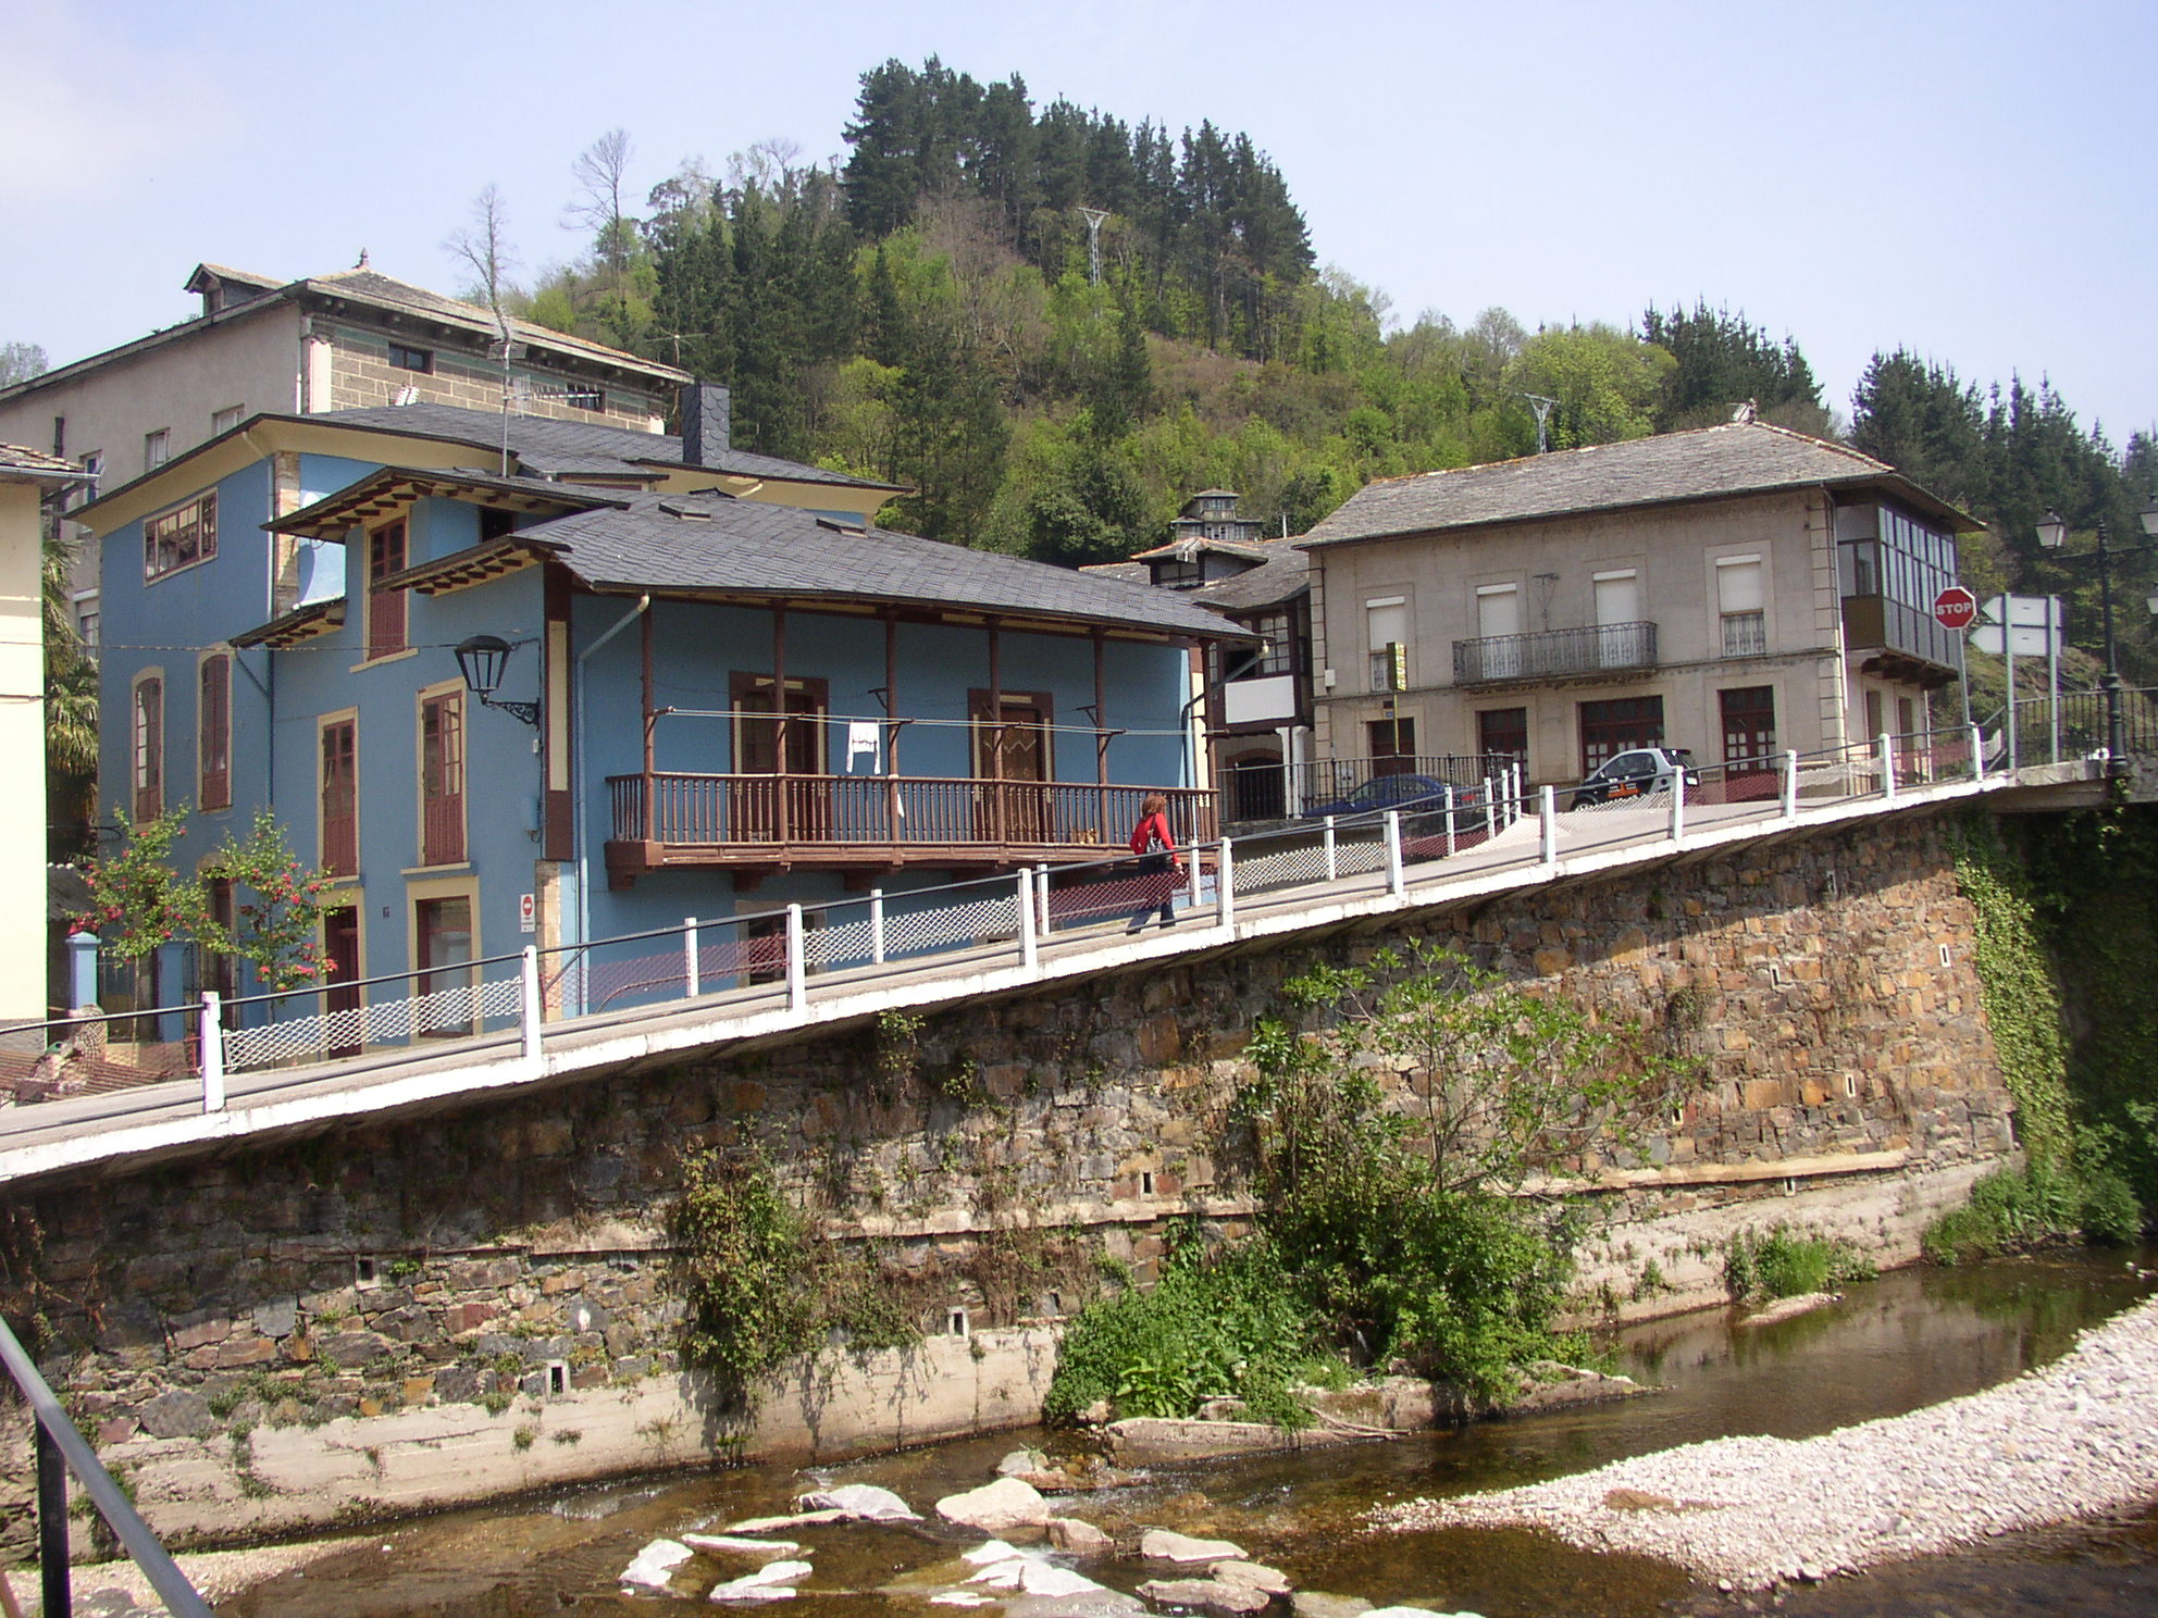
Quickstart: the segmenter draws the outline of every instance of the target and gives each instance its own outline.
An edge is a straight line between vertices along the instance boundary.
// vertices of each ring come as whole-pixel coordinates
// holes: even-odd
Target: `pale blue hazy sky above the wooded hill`
[[[0,0],[0,343],[54,365],[186,319],[199,261],[455,291],[494,183],[527,276],[578,252],[570,164],[634,192],[790,140],[937,54],[1273,155],[1321,263],[1398,321],[1744,311],[1849,412],[1871,354],[2050,378],[2158,423],[2158,0]],[[2136,155],[2141,153],[2141,157]],[[2141,179],[2136,179],[2141,175]]]

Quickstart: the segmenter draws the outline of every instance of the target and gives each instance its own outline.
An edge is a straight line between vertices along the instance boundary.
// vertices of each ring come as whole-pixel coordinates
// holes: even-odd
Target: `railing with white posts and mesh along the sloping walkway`
[[[322,1064],[410,1064],[488,1046],[492,1057],[522,1059],[537,1074],[557,1031],[591,1029],[634,1007],[725,997],[729,1016],[803,1014],[824,986],[900,984],[967,966],[969,956],[1034,969],[1042,949],[1075,941],[1092,947],[1085,934],[1111,943],[1120,925],[1234,928],[1239,906],[1295,908],[1375,889],[1403,895],[1411,885],[1444,893],[1457,874],[1552,867],[1562,856],[1666,846],[1711,824],[1793,820],[1852,800],[1895,805],[1934,785],[1983,779],[1992,768],[1975,727],[1923,731],[1703,766],[1683,790],[1666,783],[1662,792],[1588,805],[1575,803],[1571,787],[1524,787],[1508,759],[1461,798],[1196,844],[1180,872],[1120,854],[760,915],[686,917],[673,928],[283,995],[222,1001],[205,992],[188,1005],[0,1029],[0,1046],[4,1036],[43,1044],[39,1077],[0,1072],[0,1102],[9,1083],[15,1100],[32,1102],[188,1079],[201,1089],[203,1111],[222,1111],[229,1083],[257,1094],[261,1081],[252,1077],[272,1070],[302,1083],[328,1072]],[[166,1040],[173,1055],[114,1081],[114,1025],[140,1027],[142,1018],[179,1033]],[[106,1068],[93,1051],[108,1053]]]

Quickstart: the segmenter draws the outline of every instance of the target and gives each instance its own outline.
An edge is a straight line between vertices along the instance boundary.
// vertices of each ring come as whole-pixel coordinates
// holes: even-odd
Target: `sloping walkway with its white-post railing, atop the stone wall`
[[[0,1182],[449,1111],[1955,800],[2102,803],[2106,774],[2074,755],[2016,768],[1968,727],[1711,766],[1677,792],[1577,809],[1562,787],[1493,779],[1463,803],[1224,837],[1191,850],[1183,878],[1129,859],[1036,867],[235,1005],[205,995],[0,1029],[50,1046],[26,1081],[47,1098],[0,1109]],[[1129,930],[1170,889],[1174,925]]]

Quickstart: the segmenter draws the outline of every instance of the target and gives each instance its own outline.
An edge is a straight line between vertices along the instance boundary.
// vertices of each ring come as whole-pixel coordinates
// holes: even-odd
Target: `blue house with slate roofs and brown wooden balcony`
[[[725,423],[723,388],[682,438],[255,416],[82,507],[108,807],[188,803],[201,861],[270,805],[332,878],[337,979],[870,889],[904,913],[1116,850],[1155,790],[1211,835],[1193,649],[1241,630],[880,531],[898,490]]]

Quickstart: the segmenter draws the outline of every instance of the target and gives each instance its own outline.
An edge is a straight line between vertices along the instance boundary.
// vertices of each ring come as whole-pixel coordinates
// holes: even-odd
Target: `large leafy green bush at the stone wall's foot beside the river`
[[[1224,1143],[1254,1167],[1258,1232],[1172,1266],[1167,1299],[1094,1305],[1057,1361],[1053,1413],[1107,1396],[1189,1415],[1234,1391],[1280,1420],[1280,1368],[1312,1344],[1504,1398],[1532,1361],[1580,1350],[1552,1331],[1580,1221],[1532,1180],[1625,1141],[1688,1070],[1638,1029],[1431,945],[1321,966],[1284,999],[1254,1029]],[[1267,1316],[1269,1338],[1208,1335],[1208,1310],[1230,1314],[1219,1277],[1254,1269],[1299,1314]],[[1176,1357],[1217,1370],[1163,1385],[1152,1368]]]

